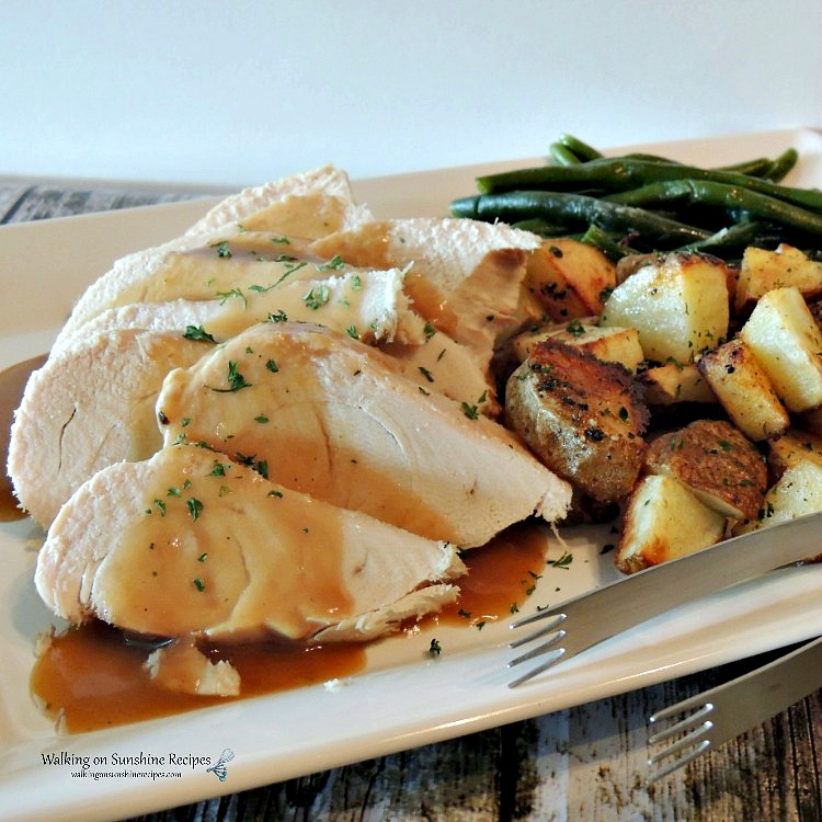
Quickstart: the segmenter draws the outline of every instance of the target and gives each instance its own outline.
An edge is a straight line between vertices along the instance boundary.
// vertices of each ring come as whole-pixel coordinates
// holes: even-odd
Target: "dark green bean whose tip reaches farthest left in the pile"
[[[586,228],[593,224],[606,230],[635,233],[654,248],[678,247],[707,239],[712,233],[642,208],[563,192],[514,191],[480,194],[455,199],[450,208],[455,217],[470,217],[489,222],[498,219],[503,222],[518,222],[539,217],[567,225],[571,229]]]

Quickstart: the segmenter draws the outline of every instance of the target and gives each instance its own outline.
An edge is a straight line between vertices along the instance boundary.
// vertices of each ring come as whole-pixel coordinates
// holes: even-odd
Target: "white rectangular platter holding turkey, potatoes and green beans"
[[[635,146],[717,165],[795,146],[788,183],[822,185],[822,137],[788,130],[667,145]],[[616,151],[617,149],[615,149]],[[625,148],[618,149],[626,150]],[[355,182],[378,217],[444,216],[475,191],[478,173],[541,160],[489,163]],[[261,181],[262,182],[262,181]],[[0,367],[47,350],[73,299],[117,256],[180,233],[213,199],[0,228]],[[530,607],[616,579],[613,539],[595,529],[563,532],[573,562],[547,568]],[[822,534],[820,534],[822,541]],[[28,521],[0,524],[0,815],[4,820],[118,819],[323,770],[505,722],[613,696],[822,633],[822,567],[791,569],[706,597],[581,654],[511,689],[505,621],[484,630],[437,626],[443,652],[427,650],[433,629],[369,648],[364,673],[342,682],[230,703],[107,731],[59,735],[30,696],[38,632],[52,625],[32,584],[42,534]],[[566,549],[547,546],[555,558]],[[819,552],[817,547],[811,552]],[[559,593],[557,593],[559,589]],[[607,618],[607,615],[603,615]],[[113,755],[209,756],[235,753],[219,781],[205,766],[182,777],[72,776],[44,755],[90,757],[111,770]],[[180,768],[174,768],[179,770]],[[159,774],[159,775],[158,775]]]

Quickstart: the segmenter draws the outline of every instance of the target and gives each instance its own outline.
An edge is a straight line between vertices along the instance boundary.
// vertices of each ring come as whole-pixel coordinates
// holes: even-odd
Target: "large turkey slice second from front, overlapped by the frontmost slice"
[[[168,375],[164,443],[205,443],[274,481],[433,539],[484,545],[560,518],[570,487],[513,434],[420,390],[389,356],[304,323],[254,326]]]

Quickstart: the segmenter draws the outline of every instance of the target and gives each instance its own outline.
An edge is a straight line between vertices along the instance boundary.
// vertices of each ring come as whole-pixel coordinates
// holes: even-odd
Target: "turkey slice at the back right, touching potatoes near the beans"
[[[375,221],[322,237],[320,256],[353,265],[411,266],[406,290],[437,329],[467,345],[487,367],[496,344],[517,331],[523,316],[527,253],[536,235],[468,219]]]

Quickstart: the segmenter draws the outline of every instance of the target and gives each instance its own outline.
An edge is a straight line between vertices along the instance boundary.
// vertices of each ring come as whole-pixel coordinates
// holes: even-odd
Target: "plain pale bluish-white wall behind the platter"
[[[0,175],[255,183],[822,126],[821,0],[0,0]]]

